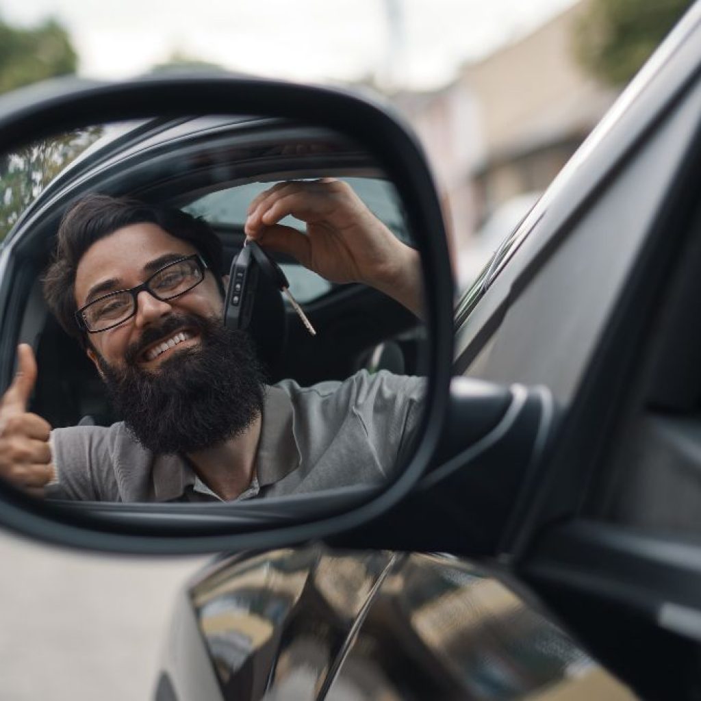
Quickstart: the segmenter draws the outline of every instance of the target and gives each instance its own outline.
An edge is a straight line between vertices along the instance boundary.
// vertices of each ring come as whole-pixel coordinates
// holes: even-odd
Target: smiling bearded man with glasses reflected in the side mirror
[[[278,224],[292,215],[306,235]],[[251,204],[247,236],[336,283],[360,282],[417,315],[418,254],[345,183],[278,184]],[[44,292],[123,421],[52,430],[26,411],[32,349],[0,406],[0,475],[49,497],[231,501],[386,479],[421,411],[421,379],[360,372],[267,386],[246,332],[222,322],[222,245],[205,222],[91,195],[62,219]]]

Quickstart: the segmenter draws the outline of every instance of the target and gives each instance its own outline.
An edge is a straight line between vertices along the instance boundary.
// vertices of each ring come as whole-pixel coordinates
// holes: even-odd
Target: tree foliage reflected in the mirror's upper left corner
[[[46,185],[102,133],[101,126],[88,127],[0,154],[0,239]]]

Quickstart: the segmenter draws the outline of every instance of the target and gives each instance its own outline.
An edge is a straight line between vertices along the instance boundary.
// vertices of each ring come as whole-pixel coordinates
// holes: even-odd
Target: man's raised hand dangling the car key
[[[306,223],[306,235],[278,224],[287,215]],[[420,315],[418,253],[398,240],[345,182],[278,183],[252,201],[245,233],[332,283],[370,285]]]

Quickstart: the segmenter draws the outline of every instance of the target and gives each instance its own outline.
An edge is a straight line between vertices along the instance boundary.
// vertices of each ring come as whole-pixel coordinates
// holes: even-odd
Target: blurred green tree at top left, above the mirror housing
[[[76,63],[69,36],[55,20],[33,29],[0,21],[0,93],[75,73]]]

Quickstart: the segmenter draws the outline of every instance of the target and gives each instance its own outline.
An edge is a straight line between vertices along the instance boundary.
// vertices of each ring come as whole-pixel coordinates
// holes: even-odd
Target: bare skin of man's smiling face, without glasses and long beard
[[[98,240],[81,258],[76,271],[76,304],[81,306],[116,290],[128,290],[139,285],[170,261],[192,255],[196,249],[184,240],[170,236],[157,224],[131,224]],[[197,346],[197,329],[182,328],[167,337],[153,338],[153,330],[163,325],[171,315],[191,314],[205,318],[222,317],[222,295],[214,275],[205,273],[205,279],[192,290],[169,301],[159,301],[146,291],[138,296],[137,313],[122,324],[99,334],[90,334],[93,349],[90,359],[97,365],[97,355],[114,368],[123,369],[128,349],[137,350],[135,364],[148,372],[158,367],[177,351]],[[147,331],[147,329],[150,329]],[[154,359],[149,351],[168,341],[178,332],[186,340],[168,349]],[[145,334],[145,336],[144,336]],[[144,338],[147,342],[144,344]],[[99,365],[98,365],[99,368]]]

